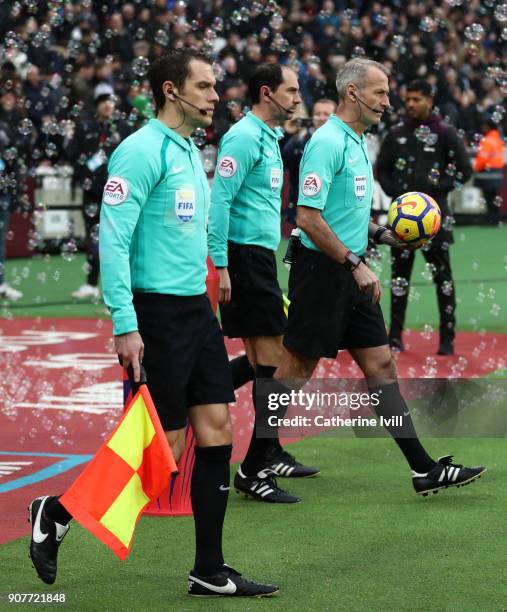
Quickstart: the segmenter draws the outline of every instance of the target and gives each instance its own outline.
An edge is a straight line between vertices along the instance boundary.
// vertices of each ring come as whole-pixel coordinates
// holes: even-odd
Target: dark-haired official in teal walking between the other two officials
[[[208,242],[220,275],[222,328],[229,338],[243,340],[255,371],[252,397],[257,412],[257,381],[273,376],[286,325],[275,258],[283,182],[279,126],[294,114],[301,98],[294,71],[278,64],[258,66],[248,86],[252,111],[220,142]],[[259,501],[295,503],[299,498],[281,489],[273,476],[317,473],[281,447],[276,431],[261,439],[254,427],[234,486]]]

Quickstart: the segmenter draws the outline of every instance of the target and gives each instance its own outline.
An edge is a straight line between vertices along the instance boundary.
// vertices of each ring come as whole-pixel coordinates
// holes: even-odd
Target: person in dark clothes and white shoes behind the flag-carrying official
[[[99,297],[98,229],[102,192],[107,179],[107,161],[132,131],[115,119],[115,98],[101,93],[95,98],[95,113],[80,121],[67,148],[74,166],[74,180],[83,188],[83,218],[86,231],[86,283],[72,293],[78,299]]]

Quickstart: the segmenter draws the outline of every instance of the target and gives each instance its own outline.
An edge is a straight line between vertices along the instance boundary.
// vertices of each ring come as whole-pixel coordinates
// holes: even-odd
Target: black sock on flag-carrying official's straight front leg
[[[211,576],[223,564],[222,529],[229,497],[232,445],[196,446],[190,496],[195,524],[195,566]]]

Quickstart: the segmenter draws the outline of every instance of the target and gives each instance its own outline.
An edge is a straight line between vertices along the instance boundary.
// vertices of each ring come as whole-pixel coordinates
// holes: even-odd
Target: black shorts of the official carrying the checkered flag
[[[188,409],[236,401],[229,358],[208,296],[135,293],[148,389],[165,431]]]

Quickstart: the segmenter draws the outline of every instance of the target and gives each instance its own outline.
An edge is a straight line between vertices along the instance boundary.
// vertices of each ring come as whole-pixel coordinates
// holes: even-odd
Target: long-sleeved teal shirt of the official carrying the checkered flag
[[[197,147],[158,119],[109,161],[100,212],[100,272],[115,335],[137,330],[132,292],[206,291],[209,187]]]

